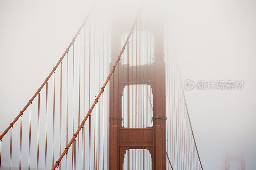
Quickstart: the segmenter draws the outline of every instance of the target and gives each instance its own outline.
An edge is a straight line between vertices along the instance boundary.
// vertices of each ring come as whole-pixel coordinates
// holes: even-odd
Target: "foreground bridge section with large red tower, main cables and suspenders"
[[[164,17],[99,6],[2,131],[0,164],[203,170]]]

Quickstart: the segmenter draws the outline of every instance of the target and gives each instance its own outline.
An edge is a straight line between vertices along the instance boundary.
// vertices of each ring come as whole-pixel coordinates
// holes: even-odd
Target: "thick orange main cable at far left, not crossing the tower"
[[[49,78],[52,76],[53,72],[56,70],[56,68],[58,67],[58,65],[60,64],[60,62],[63,60],[64,56],[67,54],[69,48],[71,47],[71,45],[73,44],[73,42],[75,41],[77,35],[79,34],[79,32],[81,31],[82,27],[84,26],[85,22],[87,21],[88,17],[90,16],[93,8],[95,6],[92,6],[91,10],[89,11],[88,15],[86,16],[86,18],[84,19],[83,24],[81,25],[81,27],[78,29],[75,37],[73,38],[73,40],[70,42],[68,48],[66,49],[66,51],[64,52],[64,54],[60,57],[60,60],[58,61],[58,63],[55,65],[55,67],[53,67],[52,71],[50,72],[50,74],[48,75],[48,77],[44,80],[43,84],[39,87],[39,89],[41,90],[44,85],[46,84],[46,82],[49,80]],[[40,90],[37,90],[36,93],[33,95],[33,97],[28,101],[28,103],[26,104],[26,106],[21,110],[20,114],[16,116],[16,118],[12,121],[12,125],[14,125],[14,123],[20,118],[20,116],[24,113],[24,111],[28,108],[28,106],[32,103],[32,101],[36,98],[37,94],[40,92]],[[4,135],[11,129],[12,125],[9,125],[4,132],[2,133],[2,135],[0,135],[0,139],[2,139],[4,137]]]

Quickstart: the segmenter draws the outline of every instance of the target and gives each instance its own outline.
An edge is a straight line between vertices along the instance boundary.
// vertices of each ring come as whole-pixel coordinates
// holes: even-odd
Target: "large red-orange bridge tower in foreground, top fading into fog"
[[[119,9],[119,8],[116,8]],[[125,13],[126,7],[115,10],[111,24],[111,63],[112,69],[120,53],[121,37],[129,32],[134,18]],[[139,10],[138,10],[139,11]],[[135,12],[136,14],[136,12]],[[147,16],[145,16],[147,17]],[[153,34],[154,62],[147,65],[133,66],[133,73],[128,65],[116,67],[109,80],[109,169],[124,169],[124,155],[129,149],[147,149],[151,154],[153,170],[166,169],[166,115],[165,115],[165,62],[163,21],[159,16],[150,16],[145,28]],[[155,19],[154,19],[155,18]],[[146,24],[146,23],[145,23]],[[142,31],[138,30],[137,31]],[[145,31],[145,30],[144,30]],[[135,32],[135,30],[133,31]],[[135,73],[137,70],[137,74]],[[133,76],[122,76],[127,75]],[[140,72],[140,74],[139,74]],[[118,74],[119,73],[119,74]],[[136,75],[135,75],[136,74]],[[120,76],[119,76],[120,75]],[[136,80],[137,81],[136,81]],[[127,85],[150,85],[153,93],[153,126],[146,128],[124,128],[122,126],[122,97]],[[135,106],[134,106],[135,107]],[[145,113],[149,114],[149,113]]]

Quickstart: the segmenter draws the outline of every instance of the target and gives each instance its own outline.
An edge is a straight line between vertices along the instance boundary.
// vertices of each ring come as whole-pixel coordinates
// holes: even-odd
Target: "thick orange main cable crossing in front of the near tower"
[[[140,8],[140,11],[141,11],[141,8]],[[127,42],[129,41],[129,38],[130,38],[130,36],[131,36],[131,34],[132,34],[132,31],[133,31],[133,28],[134,28],[134,26],[135,26],[135,24],[136,24],[136,22],[137,22],[137,20],[138,20],[138,17],[140,16],[140,11],[139,11],[138,14],[137,14],[137,17],[136,17],[136,19],[135,19],[135,21],[134,21],[134,23],[133,23],[133,26],[132,26],[132,28],[131,28],[131,31],[130,31],[130,33],[129,33],[129,35],[128,35],[128,37],[127,37],[125,43],[124,43],[124,46],[123,46],[123,48],[122,48],[120,54],[118,55],[118,57],[117,57],[117,59],[116,59],[116,62],[115,62],[115,64],[114,64],[112,70],[110,71],[110,73],[109,73],[109,75],[108,75],[108,78],[106,79],[104,85],[102,86],[102,88],[101,88],[101,90],[100,90],[98,96],[97,96],[96,99],[94,100],[94,102],[93,102],[91,108],[89,109],[87,115],[85,116],[83,122],[81,123],[81,125],[79,126],[79,128],[76,130],[76,133],[73,135],[72,139],[71,139],[70,142],[68,143],[68,145],[67,145],[67,147],[65,148],[65,150],[63,151],[63,153],[60,155],[60,158],[56,161],[55,165],[52,167],[52,170],[54,170],[54,169],[59,165],[60,160],[63,158],[63,156],[65,155],[65,153],[68,151],[69,147],[71,146],[71,144],[72,144],[73,141],[75,140],[76,135],[77,135],[77,134],[79,133],[79,131],[82,129],[82,127],[83,127],[85,121],[87,120],[87,118],[89,117],[89,115],[92,113],[92,109],[94,108],[94,106],[95,106],[96,103],[98,102],[98,100],[99,100],[99,98],[100,98],[100,95],[101,95],[102,92],[104,91],[104,88],[105,88],[106,85],[108,84],[108,81],[109,81],[111,75],[113,74],[113,72],[114,72],[114,70],[115,70],[115,68],[116,68],[116,64],[118,63],[118,61],[120,60],[120,57],[121,57],[122,53],[124,52],[124,48],[125,48]]]

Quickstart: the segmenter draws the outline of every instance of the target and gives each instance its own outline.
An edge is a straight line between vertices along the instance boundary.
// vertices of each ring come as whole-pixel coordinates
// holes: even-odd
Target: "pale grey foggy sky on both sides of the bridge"
[[[0,1],[0,130],[59,60],[92,3]],[[166,3],[183,81],[245,82],[243,90],[185,91],[204,169],[220,169],[226,150],[232,154],[242,148],[246,169],[254,170],[256,2],[161,3]]]

